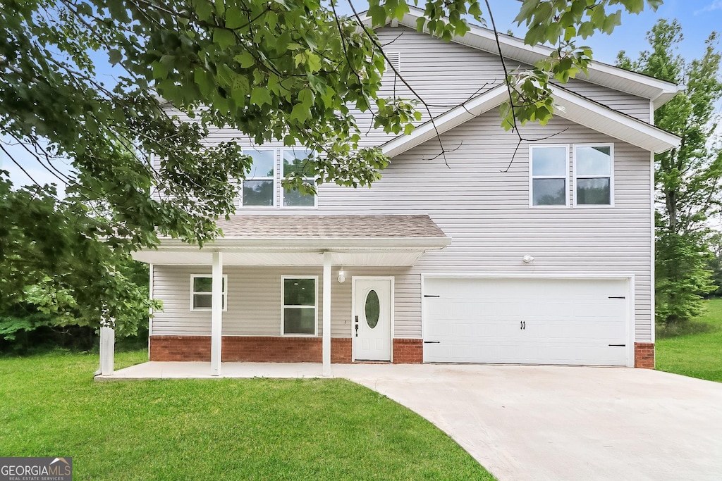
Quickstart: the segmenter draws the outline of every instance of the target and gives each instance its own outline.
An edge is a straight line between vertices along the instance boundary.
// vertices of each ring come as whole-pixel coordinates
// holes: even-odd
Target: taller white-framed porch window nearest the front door
[[[316,335],[318,327],[318,276],[281,278],[282,334]]]

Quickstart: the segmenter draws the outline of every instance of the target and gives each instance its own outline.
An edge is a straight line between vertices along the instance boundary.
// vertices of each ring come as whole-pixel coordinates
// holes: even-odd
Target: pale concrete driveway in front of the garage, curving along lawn
[[[722,384],[645,369],[334,365],[500,480],[722,480]]]

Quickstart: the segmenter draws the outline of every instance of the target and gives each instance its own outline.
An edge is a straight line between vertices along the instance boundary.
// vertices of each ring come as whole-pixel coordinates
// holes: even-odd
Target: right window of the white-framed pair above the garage
[[[614,200],[614,146],[574,146],[574,205],[611,206]]]

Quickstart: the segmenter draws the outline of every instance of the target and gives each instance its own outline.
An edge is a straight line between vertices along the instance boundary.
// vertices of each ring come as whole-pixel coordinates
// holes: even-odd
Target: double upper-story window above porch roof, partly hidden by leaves
[[[314,152],[289,147],[283,149],[243,149],[253,159],[251,171],[243,180],[240,206],[245,208],[315,207],[316,195],[282,187],[289,174],[299,173],[303,180],[314,182],[310,161]]]

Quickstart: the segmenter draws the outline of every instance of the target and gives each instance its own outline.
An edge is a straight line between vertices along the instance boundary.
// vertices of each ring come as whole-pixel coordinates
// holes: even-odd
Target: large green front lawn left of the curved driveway
[[[118,353],[116,366],[147,359]],[[414,412],[343,379],[97,382],[97,356],[0,359],[0,455],[74,480],[492,480]]]

